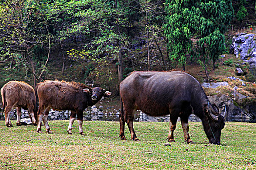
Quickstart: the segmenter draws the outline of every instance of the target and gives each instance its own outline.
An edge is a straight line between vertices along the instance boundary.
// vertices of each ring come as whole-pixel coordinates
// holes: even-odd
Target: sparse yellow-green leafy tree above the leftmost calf
[[[45,10],[44,1],[38,0],[7,0],[0,5],[2,60],[30,70],[34,85],[46,70],[51,49]]]

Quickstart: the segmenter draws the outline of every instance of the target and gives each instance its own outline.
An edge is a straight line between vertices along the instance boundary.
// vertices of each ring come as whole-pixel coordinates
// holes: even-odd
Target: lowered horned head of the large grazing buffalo
[[[225,119],[218,113],[218,107],[210,102],[204,105],[204,111],[207,119],[203,124],[209,143],[220,145],[220,135],[225,126]]]

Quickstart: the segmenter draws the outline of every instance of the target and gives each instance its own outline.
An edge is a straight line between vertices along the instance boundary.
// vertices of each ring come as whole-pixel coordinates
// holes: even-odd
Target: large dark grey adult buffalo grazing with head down
[[[122,101],[119,114],[121,139],[126,140],[126,122],[132,139],[139,141],[133,119],[135,110],[140,109],[149,116],[170,114],[168,142],[175,141],[174,130],[179,117],[185,142],[193,143],[188,134],[188,118],[194,113],[202,120],[209,143],[220,145],[224,117],[218,113],[217,106],[209,102],[199,82],[190,74],[180,71],[134,71],[120,83],[119,88]]]

